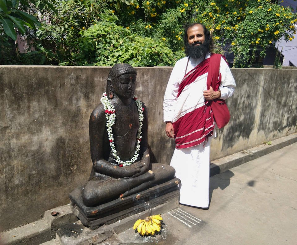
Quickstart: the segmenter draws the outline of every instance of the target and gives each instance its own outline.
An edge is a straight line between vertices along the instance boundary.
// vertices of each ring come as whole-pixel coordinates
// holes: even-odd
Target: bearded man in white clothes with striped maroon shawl
[[[216,132],[207,102],[229,98],[236,84],[228,64],[221,57],[219,90],[214,91],[212,87],[207,90],[213,40],[203,24],[193,23],[185,28],[184,45],[187,56],[176,62],[163,103],[166,135],[175,138],[176,144],[170,165],[181,180],[179,202],[208,208],[210,141]],[[198,75],[189,79],[187,75],[194,68]]]

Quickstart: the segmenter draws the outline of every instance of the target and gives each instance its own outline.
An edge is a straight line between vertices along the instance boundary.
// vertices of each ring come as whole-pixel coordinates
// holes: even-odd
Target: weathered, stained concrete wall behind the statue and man
[[[88,120],[105,90],[107,67],[0,66],[0,231],[69,203],[91,170]],[[152,162],[169,164],[162,101],[170,67],[136,68],[136,95],[149,112]],[[211,159],[296,130],[297,70],[232,69],[230,123],[217,130]]]

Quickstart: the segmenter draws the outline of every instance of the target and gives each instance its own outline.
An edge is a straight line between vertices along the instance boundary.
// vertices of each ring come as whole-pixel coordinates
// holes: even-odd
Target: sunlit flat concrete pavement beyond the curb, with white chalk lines
[[[121,244],[297,244],[297,143],[210,178],[209,210],[180,205],[162,215],[163,230]]]

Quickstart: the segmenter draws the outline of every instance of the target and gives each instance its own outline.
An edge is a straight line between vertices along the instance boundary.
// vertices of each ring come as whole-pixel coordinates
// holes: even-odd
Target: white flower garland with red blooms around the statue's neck
[[[137,144],[136,144],[136,151],[134,156],[132,157],[131,160],[127,160],[127,161],[122,161],[120,159],[120,157],[118,156],[118,152],[115,149],[115,145],[114,145],[114,137],[113,137],[113,133],[112,133],[112,126],[114,125],[115,122],[115,109],[114,106],[110,103],[110,100],[107,98],[106,93],[102,94],[101,97],[101,103],[103,104],[103,107],[105,109],[105,116],[106,116],[106,127],[107,127],[107,133],[108,133],[108,139],[110,142],[110,147],[111,147],[111,151],[112,151],[112,155],[115,157],[115,161],[118,163],[118,165],[120,167],[123,166],[127,166],[127,165],[131,165],[132,163],[136,162],[139,154],[139,150],[140,150],[140,142],[141,142],[141,129],[142,129],[142,121],[143,121],[143,111],[144,108],[142,107],[142,103],[140,100],[137,99],[136,95],[134,95],[134,101],[136,103],[137,109],[138,109],[138,115],[139,115],[139,128],[137,131]]]

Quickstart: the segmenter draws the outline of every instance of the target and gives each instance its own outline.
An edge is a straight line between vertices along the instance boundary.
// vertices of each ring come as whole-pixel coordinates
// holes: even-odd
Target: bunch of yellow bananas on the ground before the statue
[[[135,230],[137,228],[137,232],[140,235],[148,235],[148,234],[155,234],[155,232],[161,230],[161,220],[163,218],[160,214],[152,215],[150,217],[146,217],[144,220],[137,220],[133,226]]]

